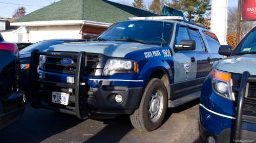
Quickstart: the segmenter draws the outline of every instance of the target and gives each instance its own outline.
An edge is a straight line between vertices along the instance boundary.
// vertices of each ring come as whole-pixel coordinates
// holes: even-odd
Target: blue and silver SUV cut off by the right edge
[[[200,98],[200,136],[207,143],[256,140],[256,27],[214,63]]]

